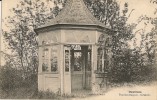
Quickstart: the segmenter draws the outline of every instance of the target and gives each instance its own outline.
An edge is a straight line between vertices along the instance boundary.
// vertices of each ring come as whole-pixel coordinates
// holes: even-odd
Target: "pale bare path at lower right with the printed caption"
[[[110,90],[105,95],[72,100],[157,100],[157,85],[119,87]]]

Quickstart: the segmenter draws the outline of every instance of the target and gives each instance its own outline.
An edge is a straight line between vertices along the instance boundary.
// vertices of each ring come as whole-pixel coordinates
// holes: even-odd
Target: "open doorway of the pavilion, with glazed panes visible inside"
[[[71,87],[91,89],[91,46],[71,45]]]

